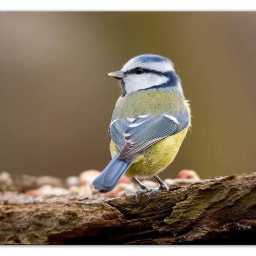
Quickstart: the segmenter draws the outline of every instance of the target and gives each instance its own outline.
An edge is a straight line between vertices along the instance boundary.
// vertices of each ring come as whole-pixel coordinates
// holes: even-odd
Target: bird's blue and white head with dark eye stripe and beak
[[[123,96],[139,90],[165,89],[182,93],[173,63],[159,55],[144,54],[129,60],[121,70],[109,73],[120,80]]]

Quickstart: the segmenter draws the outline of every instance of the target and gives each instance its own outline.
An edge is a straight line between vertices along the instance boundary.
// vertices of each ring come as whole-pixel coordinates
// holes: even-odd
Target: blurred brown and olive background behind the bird
[[[110,160],[118,82],[138,54],[175,63],[192,108],[175,161],[202,178],[255,171],[256,13],[0,13],[0,171],[78,175]]]

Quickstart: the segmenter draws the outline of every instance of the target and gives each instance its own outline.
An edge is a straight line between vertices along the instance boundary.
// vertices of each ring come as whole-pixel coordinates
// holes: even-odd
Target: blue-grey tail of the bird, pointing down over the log
[[[101,174],[94,180],[95,189],[99,189],[103,193],[111,191],[130,167],[131,163],[119,159],[119,155],[120,152],[118,151]]]

